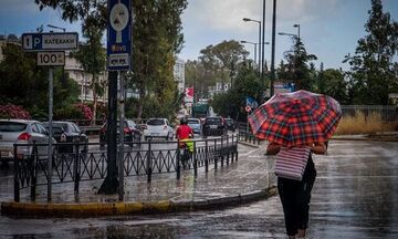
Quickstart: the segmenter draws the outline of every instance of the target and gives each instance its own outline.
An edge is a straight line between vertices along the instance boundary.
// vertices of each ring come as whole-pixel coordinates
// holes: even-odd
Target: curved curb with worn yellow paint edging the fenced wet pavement
[[[49,218],[82,218],[119,215],[169,214],[181,211],[205,210],[242,205],[266,199],[277,194],[276,187],[270,187],[248,194],[239,194],[208,200],[172,201],[160,200],[154,202],[88,202],[88,204],[27,204],[1,202],[1,214],[4,216],[49,217]],[[39,216],[38,216],[39,215]]]

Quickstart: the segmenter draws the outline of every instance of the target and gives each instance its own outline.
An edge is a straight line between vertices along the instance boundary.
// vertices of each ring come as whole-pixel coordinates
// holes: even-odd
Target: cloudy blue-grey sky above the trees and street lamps
[[[179,58],[196,60],[201,49],[218,44],[223,40],[259,41],[259,24],[243,22],[243,18],[262,20],[263,0],[188,0],[182,14],[185,44]],[[271,41],[272,0],[266,0],[265,41]],[[398,0],[383,0],[384,11],[398,21]],[[327,67],[348,69],[343,64],[344,55],[354,53],[357,40],[366,35],[364,24],[368,19],[370,0],[277,0],[276,32],[297,33],[301,25],[301,39],[308,53],[318,58]],[[22,34],[34,32],[43,24],[78,31],[78,24],[61,20],[60,11],[46,9],[39,11],[34,0],[0,0],[0,34]],[[44,28],[44,31],[49,31]],[[284,51],[293,41],[290,37],[276,34],[275,56],[280,63]],[[252,44],[245,45],[253,56]],[[270,62],[271,48],[265,46],[265,59]]]

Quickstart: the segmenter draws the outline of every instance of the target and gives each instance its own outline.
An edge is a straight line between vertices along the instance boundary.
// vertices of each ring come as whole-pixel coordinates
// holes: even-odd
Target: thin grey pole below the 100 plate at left
[[[53,69],[49,70],[49,172],[48,172],[48,201],[51,201],[52,183],[52,116],[53,116]]]

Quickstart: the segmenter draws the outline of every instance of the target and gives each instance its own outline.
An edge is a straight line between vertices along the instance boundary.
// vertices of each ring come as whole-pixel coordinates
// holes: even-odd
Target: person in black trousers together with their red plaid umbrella
[[[341,116],[337,101],[307,91],[276,94],[248,116],[253,134],[270,142],[266,155],[277,155],[277,191],[289,238],[305,238],[316,177],[312,153],[326,153]]]

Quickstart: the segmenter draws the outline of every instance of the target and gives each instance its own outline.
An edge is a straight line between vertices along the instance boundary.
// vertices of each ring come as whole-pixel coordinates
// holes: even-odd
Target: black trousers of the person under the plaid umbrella
[[[316,177],[314,162],[310,155],[301,181],[277,178],[277,191],[282,201],[287,236],[297,233],[297,229],[308,227],[311,190]]]

